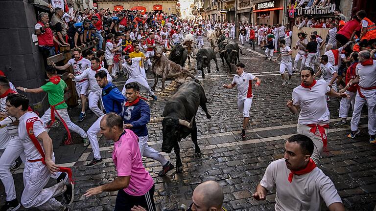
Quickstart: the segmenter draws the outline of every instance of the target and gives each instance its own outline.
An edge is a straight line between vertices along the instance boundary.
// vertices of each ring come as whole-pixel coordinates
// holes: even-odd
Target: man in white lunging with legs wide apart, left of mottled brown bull
[[[148,58],[146,57],[145,59]],[[151,90],[149,84],[141,73],[141,67],[143,68],[144,58],[138,57],[131,59],[129,56],[125,56],[124,60],[125,63],[123,63],[123,68],[125,68],[129,72],[129,79],[125,82],[121,93],[125,96],[125,85],[131,82],[137,82],[147,89],[150,97],[152,97],[154,100],[157,100],[157,96],[154,95],[154,92]]]

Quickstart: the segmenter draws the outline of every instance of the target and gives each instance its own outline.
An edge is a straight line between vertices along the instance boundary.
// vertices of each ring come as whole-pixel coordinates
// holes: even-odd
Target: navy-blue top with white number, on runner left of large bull
[[[124,124],[131,124],[133,127],[131,130],[139,137],[147,136],[147,123],[150,121],[150,108],[149,105],[143,100],[131,106],[125,106],[123,108]]]

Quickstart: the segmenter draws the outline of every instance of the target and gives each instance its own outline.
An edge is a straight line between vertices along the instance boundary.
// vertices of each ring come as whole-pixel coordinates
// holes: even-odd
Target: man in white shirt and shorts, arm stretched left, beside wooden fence
[[[92,66],[92,63],[88,59],[82,57],[82,51],[80,48],[73,48],[73,56],[74,58],[70,59],[68,63],[63,66],[56,66],[53,62],[51,62],[51,65],[58,70],[66,70],[72,66],[74,76],[81,75],[84,70]],[[75,84],[76,92],[81,99],[81,113],[78,117],[78,122],[81,122],[86,116],[86,103],[88,102],[86,95],[88,94],[89,82],[87,79],[83,79]]]

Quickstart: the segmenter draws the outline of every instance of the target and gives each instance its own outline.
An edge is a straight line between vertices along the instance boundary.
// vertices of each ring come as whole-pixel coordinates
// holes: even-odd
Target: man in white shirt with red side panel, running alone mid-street
[[[231,89],[237,87],[237,108],[239,112],[243,114],[243,129],[241,130],[241,136],[245,137],[245,130],[249,122],[249,110],[252,105],[252,81],[256,81],[255,86],[258,87],[261,80],[255,77],[251,73],[244,72],[245,65],[243,63],[236,64],[236,75],[234,76],[231,84],[223,84],[224,88]]]

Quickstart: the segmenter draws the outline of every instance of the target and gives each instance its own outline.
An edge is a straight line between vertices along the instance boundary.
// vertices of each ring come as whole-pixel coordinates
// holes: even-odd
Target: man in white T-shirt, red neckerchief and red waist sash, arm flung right
[[[306,135],[312,139],[315,148],[312,159],[318,163],[321,151],[326,150],[329,128],[329,109],[327,95],[330,97],[350,97],[346,93],[338,93],[330,88],[324,80],[314,80],[315,72],[310,67],[305,67],[300,72],[302,84],[292,91],[292,100],[287,102],[287,107],[294,114],[299,113],[298,134]]]

